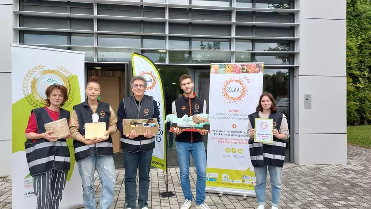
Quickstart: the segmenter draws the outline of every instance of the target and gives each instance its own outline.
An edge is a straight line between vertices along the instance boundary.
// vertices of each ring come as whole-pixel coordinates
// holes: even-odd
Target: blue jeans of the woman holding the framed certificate
[[[264,166],[262,168],[254,167],[256,176],[255,193],[259,205],[265,204],[265,185],[267,183],[267,167],[272,185],[272,206],[278,207],[281,197],[281,167]]]

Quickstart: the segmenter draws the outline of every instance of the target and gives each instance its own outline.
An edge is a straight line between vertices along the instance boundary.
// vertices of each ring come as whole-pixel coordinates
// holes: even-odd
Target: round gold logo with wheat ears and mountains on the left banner
[[[67,80],[72,76],[71,72],[63,66],[57,66],[58,70],[44,70],[44,65],[37,65],[29,70],[23,78],[22,91],[26,101],[33,107],[39,108],[46,104],[45,90],[52,84],[60,84],[67,88],[68,100],[64,107],[69,107],[76,95],[74,79]],[[31,85],[29,83],[31,82]],[[71,86],[71,89],[70,89]],[[31,92],[29,91],[31,90]]]

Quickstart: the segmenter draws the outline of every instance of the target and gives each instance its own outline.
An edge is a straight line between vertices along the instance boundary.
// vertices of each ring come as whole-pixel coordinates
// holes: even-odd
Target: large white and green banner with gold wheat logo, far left
[[[35,209],[33,177],[24,147],[25,130],[31,110],[45,106],[45,90],[61,84],[68,89],[64,109],[84,99],[84,52],[12,44],[12,203],[13,209]],[[60,209],[83,207],[82,181],[74,158],[73,139],[67,139],[71,168],[62,194]]]

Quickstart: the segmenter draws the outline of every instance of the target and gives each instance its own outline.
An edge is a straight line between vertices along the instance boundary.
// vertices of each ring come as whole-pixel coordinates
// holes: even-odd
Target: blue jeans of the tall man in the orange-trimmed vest
[[[192,155],[196,165],[196,204],[205,201],[206,188],[206,153],[204,142],[176,142],[176,151],[180,167],[180,183],[182,184],[184,198],[192,201],[191,182],[189,181],[189,154]]]

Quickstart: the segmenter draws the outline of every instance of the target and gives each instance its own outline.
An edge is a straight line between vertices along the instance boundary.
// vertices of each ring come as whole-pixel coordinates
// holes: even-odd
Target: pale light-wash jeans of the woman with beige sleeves
[[[109,209],[115,197],[115,163],[111,155],[95,155],[77,162],[82,179],[83,198],[86,209],[96,209],[94,190],[95,165],[102,184],[99,209]]]

